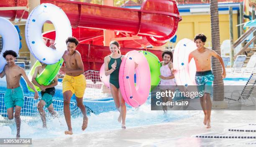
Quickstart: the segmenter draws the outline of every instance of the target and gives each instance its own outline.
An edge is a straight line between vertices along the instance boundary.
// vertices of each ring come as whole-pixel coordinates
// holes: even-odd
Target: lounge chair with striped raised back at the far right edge
[[[243,87],[241,94],[237,98],[235,98],[233,93],[238,93],[238,91],[233,91],[231,97],[225,97],[225,99],[228,100],[228,104],[231,104],[230,101],[237,101],[245,104],[246,106],[255,105],[254,98],[256,98],[256,90],[253,90],[254,86],[256,86],[256,73],[251,74],[246,85]],[[251,103],[248,104],[246,101],[250,101]]]

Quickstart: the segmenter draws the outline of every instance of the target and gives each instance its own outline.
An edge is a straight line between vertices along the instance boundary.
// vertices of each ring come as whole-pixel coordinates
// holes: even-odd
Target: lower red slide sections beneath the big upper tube
[[[86,32],[86,33],[80,33]],[[104,62],[104,57],[110,54],[108,46],[103,46],[103,30],[89,29],[89,28],[73,28],[72,35],[79,40],[79,45],[77,50],[82,56],[82,61],[84,63],[84,70],[100,70],[101,65]],[[123,35],[115,35],[116,37],[123,37]],[[54,43],[55,40],[55,31],[46,32],[43,34],[46,46],[49,46]],[[140,49],[141,45],[134,42],[138,41],[139,43],[148,43],[146,38],[142,40],[123,40],[119,41],[121,45],[121,53],[125,55],[131,50],[145,50]],[[161,60],[161,51],[160,50],[151,50],[147,49],[149,52],[154,53]]]

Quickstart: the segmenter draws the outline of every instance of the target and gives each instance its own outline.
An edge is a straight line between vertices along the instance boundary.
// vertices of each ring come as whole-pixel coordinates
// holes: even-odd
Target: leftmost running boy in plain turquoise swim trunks
[[[2,78],[6,75],[7,90],[4,97],[5,106],[10,120],[13,119],[13,107],[15,107],[14,117],[17,127],[16,137],[20,138],[20,110],[24,103],[23,91],[20,87],[20,77],[23,76],[28,83],[28,86],[35,91],[35,99],[38,99],[38,92],[33,84],[28,80],[25,70],[15,64],[15,59],[17,57],[16,52],[13,50],[6,50],[3,53],[3,57],[7,64],[5,65],[3,72],[0,73],[0,77]]]

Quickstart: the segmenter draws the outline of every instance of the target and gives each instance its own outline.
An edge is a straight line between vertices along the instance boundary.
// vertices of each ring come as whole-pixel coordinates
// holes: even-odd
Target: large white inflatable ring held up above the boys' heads
[[[56,50],[47,47],[42,39],[42,27],[44,22],[51,21],[55,27]],[[67,45],[65,40],[72,36],[72,27],[70,21],[63,10],[56,5],[43,3],[33,9],[28,16],[25,37],[28,49],[37,60],[45,64],[54,64],[58,62]]]

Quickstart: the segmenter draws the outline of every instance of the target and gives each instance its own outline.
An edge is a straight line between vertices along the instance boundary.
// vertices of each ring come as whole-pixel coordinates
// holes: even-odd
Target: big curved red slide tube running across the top
[[[2,1],[0,7],[27,5],[27,0]],[[52,3],[61,7],[74,27],[115,30],[147,36],[148,42],[154,46],[164,45],[171,40],[177,31],[178,22],[182,20],[175,0],[144,0],[140,10],[70,0],[41,0],[41,3]],[[1,11],[0,16],[12,19],[22,16],[26,19],[28,12],[23,12]]]

